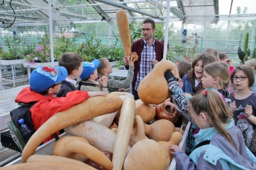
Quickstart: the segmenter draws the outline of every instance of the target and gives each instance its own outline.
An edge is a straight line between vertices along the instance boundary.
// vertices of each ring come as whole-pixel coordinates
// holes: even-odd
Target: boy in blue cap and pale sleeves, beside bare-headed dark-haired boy
[[[102,76],[100,77],[99,82],[95,81],[98,79],[97,68],[99,64],[99,59],[95,59],[91,63],[83,63],[83,72],[80,75],[82,81],[79,82],[78,89],[81,91],[103,91],[105,93],[109,93],[107,88],[108,77]]]

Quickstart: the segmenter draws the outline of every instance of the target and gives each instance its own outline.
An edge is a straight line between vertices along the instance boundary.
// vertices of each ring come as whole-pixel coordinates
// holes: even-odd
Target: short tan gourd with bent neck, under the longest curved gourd
[[[102,151],[98,150],[97,148],[90,145],[90,143],[87,143],[80,138],[82,137],[61,137],[61,139],[59,139],[54,145],[52,155],[72,157],[74,153],[78,153],[86,158],[90,158],[106,169],[112,169],[113,164],[111,160],[109,160],[109,158],[104,153],[102,153]]]

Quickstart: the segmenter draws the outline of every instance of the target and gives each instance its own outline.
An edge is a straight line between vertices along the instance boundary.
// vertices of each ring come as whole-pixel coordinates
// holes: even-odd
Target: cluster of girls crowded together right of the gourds
[[[252,59],[234,69],[227,54],[204,52],[182,87],[169,82],[176,109],[193,124],[186,153],[170,146],[177,169],[256,169],[255,64]],[[192,95],[189,101],[184,92]]]

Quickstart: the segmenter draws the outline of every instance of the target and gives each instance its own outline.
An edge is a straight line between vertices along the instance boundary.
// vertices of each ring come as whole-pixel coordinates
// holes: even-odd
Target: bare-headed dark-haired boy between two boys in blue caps
[[[65,52],[59,59],[59,66],[67,69],[68,76],[61,82],[57,97],[66,97],[68,92],[77,90],[75,79],[83,72],[83,58],[75,52]]]

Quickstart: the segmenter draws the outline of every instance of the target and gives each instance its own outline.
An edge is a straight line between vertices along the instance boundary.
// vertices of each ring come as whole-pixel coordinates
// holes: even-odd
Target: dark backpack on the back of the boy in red
[[[36,102],[30,102],[28,104],[19,103],[19,107],[10,111],[12,121],[8,121],[8,127],[10,129],[10,134],[12,135],[13,141],[17,144],[17,146],[19,146],[21,150],[23,150],[29,138],[35,132],[30,112],[30,108],[35,104]],[[31,129],[31,132],[26,136],[22,136],[20,131],[20,119],[23,119],[24,123],[26,123]]]

